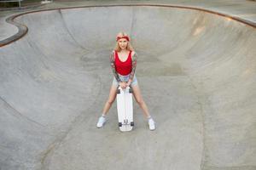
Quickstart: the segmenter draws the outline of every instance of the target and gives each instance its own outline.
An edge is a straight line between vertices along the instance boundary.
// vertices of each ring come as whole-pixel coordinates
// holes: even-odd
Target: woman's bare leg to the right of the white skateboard
[[[138,87],[138,85],[131,86],[131,88],[133,90],[133,95],[137,101],[137,104],[140,105],[140,107],[143,109],[144,116],[146,116],[147,118],[150,117],[150,114],[148,112],[148,107],[143,100],[143,96],[141,94],[140,88]]]

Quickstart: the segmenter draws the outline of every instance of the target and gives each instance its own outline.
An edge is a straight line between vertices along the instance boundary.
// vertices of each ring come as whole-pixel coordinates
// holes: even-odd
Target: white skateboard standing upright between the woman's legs
[[[121,132],[131,131],[134,126],[133,106],[132,106],[132,88],[118,88],[117,92],[117,110],[119,117],[119,129]]]

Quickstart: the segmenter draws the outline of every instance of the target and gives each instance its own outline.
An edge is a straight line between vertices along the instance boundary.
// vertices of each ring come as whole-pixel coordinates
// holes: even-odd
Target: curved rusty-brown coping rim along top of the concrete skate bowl
[[[190,6],[182,6],[182,5],[170,5],[170,4],[153,4],[153,3],[141,3],[141,4],[109,4],[109,5],[83,5],[83,6],[74,6],[74,7],[65,7],[65,8],[48,8],[48,9],[39,9],[39,10],[32,10],[29,12],[24,12],[20,14],[14,14],[6,19],[6,22],[8,22],[11,25],[17,26],[18,33],[16,33],[14,36],[8,37],[4,40],[0,41],[0,48],[3,46],[8,45],[9,43],[15,42],[19,40],[21,37],[24,37],[28,31],[27,26],[22,25],[18,22],[15,22],[15,18],[19,17],[20,15],[24,14],[31,14],[31,13],[38,13],[38,12],[44,12],[44,11],[50,11],[50,10],[60,10],[60,9],[71,9],[71,8],[95,8],[95,7],[122,7],[122,6],[145,6],[145,7],[166,7],[166,8],[184,8],[184,9],[191,9],[191,10],[198,10],[203,11],[209,14],[218,14],[219,16],[228,18],[229,20],[236,20],[238,22],[241,22],[242,24],[246,26],[251,26],[253,28],[256,28],[256,23],[252,22],[250,20],[245,20],[237,16],[232,16],[230,14],[224,14],[217,11],[212,11],[206,8],[197,8],[197,7],[190,7]]]

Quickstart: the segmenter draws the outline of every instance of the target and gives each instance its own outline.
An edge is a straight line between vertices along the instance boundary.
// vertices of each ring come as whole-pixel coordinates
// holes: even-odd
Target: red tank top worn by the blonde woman
[[[114,64],[115,64],[115,70],[120,74],[120,75],[128,75],[131,73],[131,51],[128,54],[127,59],[123,62],[119,59],[119,55],[117,51],[115,52],[115,59],[114,59]]]

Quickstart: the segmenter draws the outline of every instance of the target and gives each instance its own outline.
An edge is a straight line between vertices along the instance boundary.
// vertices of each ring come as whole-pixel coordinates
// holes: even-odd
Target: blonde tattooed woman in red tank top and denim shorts
[[[148,127],[150,130],[155,129],[153,118],[149,115],[148,107],[145,104],[138,87],[135,69],[137,65],[137,54],[131,47],[130,37],[125,32],[120,32],[116,37],[116,47],[110,55],[110,63],[113,70],[113,83],[110,88],[108,101],[106,102],[100,116],[97,127],[102,127],[106,122],[106,115],[117,94],[117,88],[126,88],[131,86],[133,95],[137,104],[143,109],[143,114],[148,118]]]

